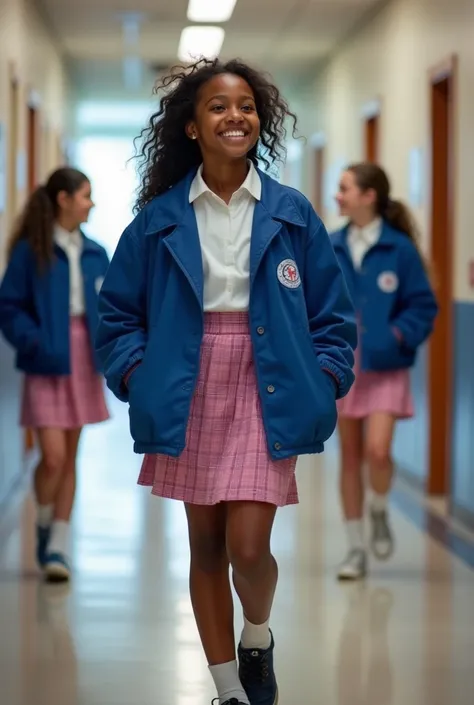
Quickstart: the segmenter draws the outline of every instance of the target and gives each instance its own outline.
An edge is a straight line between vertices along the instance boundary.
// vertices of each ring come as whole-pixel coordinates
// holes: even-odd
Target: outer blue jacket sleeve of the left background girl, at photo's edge
[[[21,353],[34,350],[40,339],[34,319],[34,266],[28,243],[20,241],[0,286],[0,329],[10,345]]]

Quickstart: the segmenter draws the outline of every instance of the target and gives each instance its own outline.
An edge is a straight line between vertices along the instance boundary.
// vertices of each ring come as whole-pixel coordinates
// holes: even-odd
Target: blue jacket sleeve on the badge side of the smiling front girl
[[[354,382],[355,311],[329,235],[314,211],[306,247],[304,289],[309,328],[321,368],[337,383],[337,398]]]

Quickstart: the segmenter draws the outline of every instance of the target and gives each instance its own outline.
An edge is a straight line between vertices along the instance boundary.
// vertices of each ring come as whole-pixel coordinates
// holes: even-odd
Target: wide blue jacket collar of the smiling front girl
[[[291,190],[282,187],[260,169],[257,172],[262,182],[260,206],[274,220],[304,226],[305,221],[291,196]],[[174,228],[185,219],[187,211],[193,207],[189,202],[189,192],[196,173],[197,168],[190,171],[176,186],[151,201],[148,205],[150,214],[145,235],[155,235]]]

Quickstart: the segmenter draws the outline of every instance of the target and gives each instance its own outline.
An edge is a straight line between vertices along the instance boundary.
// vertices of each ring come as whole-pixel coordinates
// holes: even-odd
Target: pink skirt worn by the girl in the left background
[[[21,425],[27,428],[80,428],[109,418],[104,385],[97,374],[85,318],[70,319],[71,374],[27,375]]]

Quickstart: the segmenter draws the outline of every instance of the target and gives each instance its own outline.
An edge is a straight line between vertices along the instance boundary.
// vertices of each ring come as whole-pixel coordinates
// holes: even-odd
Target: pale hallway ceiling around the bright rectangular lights
[[[215,0],[216,3],[219,0]],[[37,0],[89,97],[124,94],[127,47],[123,15],[140,13],[138,54],[144,73],[130,96],[148,96],[154,67],[176,62],[188,0]],[[237,0],[221,55],[270,70],[287,84],[323,59],[382,0]],[[134,53],[134,50],[132,50]]]

